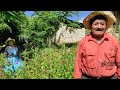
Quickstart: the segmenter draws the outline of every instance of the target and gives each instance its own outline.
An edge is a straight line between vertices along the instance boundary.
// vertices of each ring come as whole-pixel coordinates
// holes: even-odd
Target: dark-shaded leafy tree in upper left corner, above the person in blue
[[[24,23],[24,11],[0,11],[0,45],[3,45],[8,37],[16,39],[19,32],[19,25]]]

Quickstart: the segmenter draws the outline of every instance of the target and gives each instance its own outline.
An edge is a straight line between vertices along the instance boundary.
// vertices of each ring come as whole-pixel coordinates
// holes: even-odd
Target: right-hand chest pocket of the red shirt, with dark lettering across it
[[[104,53],[105,54],[105,67],[107,70],[112,70],[113,66],[115,66],[116,51],[114,49],[110,49],[108,51]]]

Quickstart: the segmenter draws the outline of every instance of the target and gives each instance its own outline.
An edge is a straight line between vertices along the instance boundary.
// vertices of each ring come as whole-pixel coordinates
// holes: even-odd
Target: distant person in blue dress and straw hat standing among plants
[[[4,55],[6,61],[4,63],[4,71],[8,70],[15,72],[17,69],[22,66],[22,60],[19,57],[19,48],[15,46],[15,39],[8,38],[6,40],[6,48],[4,50]]]

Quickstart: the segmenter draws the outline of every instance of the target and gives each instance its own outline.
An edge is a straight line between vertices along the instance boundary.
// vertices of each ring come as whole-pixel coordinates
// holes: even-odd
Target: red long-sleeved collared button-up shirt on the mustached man
[[[120,78],[120,48],[118,41],[107,33],[98,43],[91,34],[85,36],[78,45],[74,62],[74,78],[82,73],[91,77],[107,77],[115,74]]]

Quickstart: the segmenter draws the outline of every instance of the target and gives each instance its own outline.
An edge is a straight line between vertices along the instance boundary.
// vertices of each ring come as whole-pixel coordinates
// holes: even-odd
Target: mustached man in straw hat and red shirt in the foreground
[[[115,16],[109,11],[94,11],[83,20],[84,27],[91,33],[79,42],[74,78],[120,78],[120,46],[116,38],[106,32],[115,22]]]

